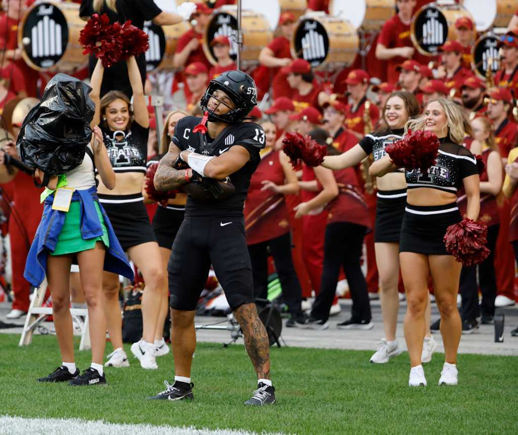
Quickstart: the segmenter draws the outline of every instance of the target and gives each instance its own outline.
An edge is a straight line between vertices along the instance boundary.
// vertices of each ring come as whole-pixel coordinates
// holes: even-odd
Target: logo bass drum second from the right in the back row
[[[474,22],[471,13],[463,6],[437,3],[423,6],[410,23],[410,38],[414,47],[425,56],[437,55],[437,49],[447,39],[457,39],[455,21],[461,17],[468,17]]]

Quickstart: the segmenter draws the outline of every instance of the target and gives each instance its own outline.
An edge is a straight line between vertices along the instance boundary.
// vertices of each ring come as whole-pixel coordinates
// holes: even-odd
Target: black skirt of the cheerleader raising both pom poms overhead
[[[142,243],[156,242],[142,194],[98,196],[124,251]]]

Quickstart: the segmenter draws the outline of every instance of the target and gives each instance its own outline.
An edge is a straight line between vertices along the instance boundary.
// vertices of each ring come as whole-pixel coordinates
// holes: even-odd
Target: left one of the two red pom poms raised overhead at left
[[[110,24],[106,13],[100,17],[94,13],[79,33],[79,44],[83,54],[93,54],[110,67],[121,59],[121,25]]]

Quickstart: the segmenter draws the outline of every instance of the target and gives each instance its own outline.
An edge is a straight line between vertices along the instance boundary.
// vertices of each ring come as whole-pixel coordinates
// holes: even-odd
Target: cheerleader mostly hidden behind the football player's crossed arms
[[[164,123],[164,129],[162,130],[159,154],[149,160],[148,167],[154,163],[159,163],[160,159],[166,154],[169,148],[169,143],[171,142],[171,137],[175,134],[176,123],[185,116],[187,116],[187,113],[182,110],[170,112],[167,115]],[[144,197],[145,204],[152,204],[153,200],[148,197],[146,192],[146,178],[144,179],[143,183],[142,195]],[[169,199],[169,201],[167,201],[167,205],[159,204],[153,216],[152,225],[156,240],[159,244],[160,256],[162,258],[162,270],[165,277],[167,277],[167,262],[169,261],[169,256],[171,255],[172,242],[175,241],[178,228],[180,228],[180,224],[183,222],[186,199],[186,194],[177,193],[175,198]],[[155,356],[163,356],[169,353],[169,347],[165,343],[162,334],[162,329],[164,327],[164,322],[166,320],[168,311],[169,301],[166,294],[161,301],[160,314],[155,330]]]

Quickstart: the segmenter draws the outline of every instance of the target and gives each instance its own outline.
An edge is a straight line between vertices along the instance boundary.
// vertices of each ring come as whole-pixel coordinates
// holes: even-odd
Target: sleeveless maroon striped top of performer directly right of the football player
[[[250,180],[244,201],[244,227],[249,245],[275,239],[290,230],[284,196],[269,190],[262,191],[263,180],[284,184],[279,151],[271,150],[263,154]]]

